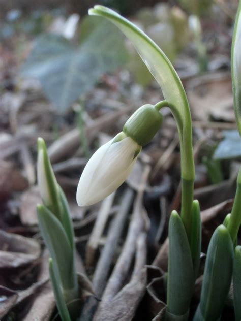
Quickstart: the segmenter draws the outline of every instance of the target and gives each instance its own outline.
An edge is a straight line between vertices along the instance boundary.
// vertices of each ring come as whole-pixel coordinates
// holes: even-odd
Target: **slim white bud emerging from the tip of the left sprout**
[[[47,183],[47,178],[45,173],[44,153],[42,149],[39,150],[38,152],[37,178],[38,178],[40,196],[45,204],[50,204],[51,199],[49,195],[49,188],[48,188],[48,183]]]

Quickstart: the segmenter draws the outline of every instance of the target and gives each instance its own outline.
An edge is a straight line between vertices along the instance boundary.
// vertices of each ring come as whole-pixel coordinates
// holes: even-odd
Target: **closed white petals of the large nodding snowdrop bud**
[[[141,146],[124,133],[101,146],[89,159],[80,177],[76,195],[78,205],[95,204],[122,185],[140,151]]]

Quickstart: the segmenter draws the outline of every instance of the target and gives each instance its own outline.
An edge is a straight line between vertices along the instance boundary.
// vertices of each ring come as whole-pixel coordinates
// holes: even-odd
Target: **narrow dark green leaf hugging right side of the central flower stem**
[[[199,265],[200,265],[200,254],[201,254],[201,238],[202,238],[202,226],[201,226],[201,215],[200,207],[197,200],[193,201],[192,208],[192,225],[191,225],[191,240],[190,248],[193,260],[193,271],[194,278],[197,278]]]

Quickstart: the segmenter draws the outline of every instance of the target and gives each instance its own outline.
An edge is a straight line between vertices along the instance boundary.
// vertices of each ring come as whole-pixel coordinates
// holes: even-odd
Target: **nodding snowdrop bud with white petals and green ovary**
[[[79,206],[95,204],[118,188],[131,172],[142,146],[152,140],[162,123],[153,105],[140,107],[123,132],[101,146],[89,159],[77,187]]]

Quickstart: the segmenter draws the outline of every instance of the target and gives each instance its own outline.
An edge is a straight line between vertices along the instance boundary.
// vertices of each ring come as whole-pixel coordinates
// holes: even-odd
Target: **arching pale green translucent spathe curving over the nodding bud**
[[[194,178],[192,157],[192,126],[187,96],[183,85],[163,51],[133,23],[111,9],[95,6],[90,15],[99,15],[113,22],[132,41],[150,73],[159,83],[165,100],[169,103],[180,133],[180,146],[186,157],[182,157],[182,177]]]

